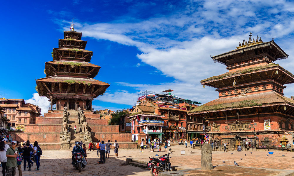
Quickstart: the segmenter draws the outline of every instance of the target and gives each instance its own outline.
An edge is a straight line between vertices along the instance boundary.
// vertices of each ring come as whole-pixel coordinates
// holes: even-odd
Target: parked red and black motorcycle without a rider
[[[167,172],[167,171],[175,171],[175,167],[171,166],[169,155],[172,153],[169,153],[171,151],[171,148],[169,149],[168,153],[162,156],[159,156],[159,158],[149,157],[150,161],[147,163],[147,167],[150,170],[150,174],[152,176],[157,176],[159,172]]]

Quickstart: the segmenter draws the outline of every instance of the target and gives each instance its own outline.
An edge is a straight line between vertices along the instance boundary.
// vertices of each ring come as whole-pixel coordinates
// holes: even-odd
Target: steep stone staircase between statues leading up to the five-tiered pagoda
[[[71,144],[75,141],[81,141],[80,125],[78,124],[78,112],[75,110],[68,110],[69,113],[69,130],[71,132]],[[76,134],[74,133],[74,126],[76,125]],[[72,145],[74,146],[74,145]]]

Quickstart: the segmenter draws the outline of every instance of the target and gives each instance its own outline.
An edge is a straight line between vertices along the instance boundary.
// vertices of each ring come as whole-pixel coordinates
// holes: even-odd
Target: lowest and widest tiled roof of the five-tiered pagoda
[[[76,78],[76,77],[61,77],[61,76],[49,76],[46,78],[40,78],[37,79],[38,82],[66,82],[66,80],[71,80],[75,81],[76,83],[81,83],[81,84],[96,84],[96,85],[104,85],[104,86],[109,86],[110,84],[102,81],[98,81],[93,78]]]

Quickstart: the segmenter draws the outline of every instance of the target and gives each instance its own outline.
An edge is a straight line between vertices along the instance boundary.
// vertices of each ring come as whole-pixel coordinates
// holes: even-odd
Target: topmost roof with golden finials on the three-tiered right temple
[[[253,41],[251,40],[251,36],[252,33],[250,33],[250,37],[247,43],[247,40],[245,42],[245,40],[243,40],[243,43],[241,45],[241,43],[239,44],[239,46],[237,47],[237,49],[220,54],[220,55],[216,55],[216,56],[211,56],[211,58],[215,61],[215,62],[219,62],[221,64],[227,65],[228,64],[228,60],[231,59],[235,59],[237,57],[241,57],[242,54],[244,54],[245,52],[251,51],[251,50],[255,50],[255,49],[260,49],[260,48],[268,48],[269,49],[269,55],[272,57],[271,61],[275,61],[275,60],[281,60],[281,59],[285,59],[288,57],[288,54],[285,53],[285,51],[283,51],[275,42],[274,40],[271,40],[269,42],[263,42],[261,39],[259,41],[255,41],[253,39]],[[258,37],[257,37],[258,39]],[[245,42],[245,43],[244,43]],[[250,43],[249,43],[250,42]],[[255,55],[258,55],[258,53],[256,52]]]

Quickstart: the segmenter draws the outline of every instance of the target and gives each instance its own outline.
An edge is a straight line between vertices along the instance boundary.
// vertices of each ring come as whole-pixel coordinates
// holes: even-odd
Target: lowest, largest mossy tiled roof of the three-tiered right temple
[[[274,91],[270,91],[265,93],[242,95],[238,97],[216,99],[194,108],[188,112],[188,115],[216,112],[220,110],[243,109],[273,105],[294,106],[294,100],[288,97],[284,97]]]

